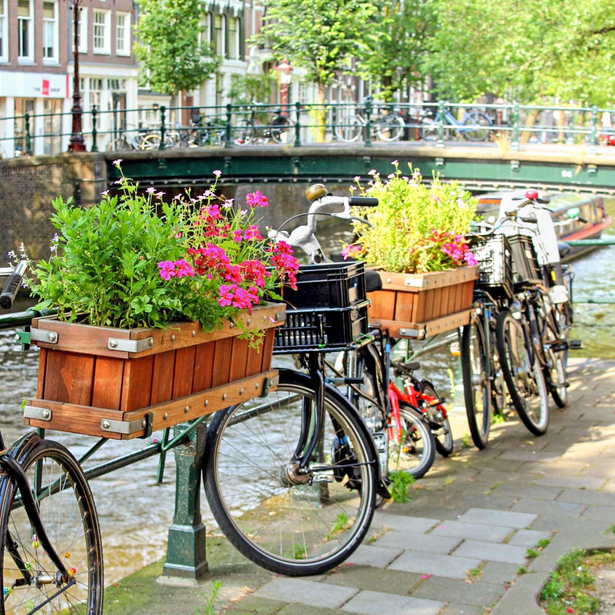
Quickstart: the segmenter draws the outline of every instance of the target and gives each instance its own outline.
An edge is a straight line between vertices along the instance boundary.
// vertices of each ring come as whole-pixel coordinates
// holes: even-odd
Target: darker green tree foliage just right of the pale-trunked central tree
[[[437,25],[437,0],[379,0],[367,28],[366,48],[359,58],[364,77],[381,86],[381,97],[404,85],[422,84],[425,58]]]

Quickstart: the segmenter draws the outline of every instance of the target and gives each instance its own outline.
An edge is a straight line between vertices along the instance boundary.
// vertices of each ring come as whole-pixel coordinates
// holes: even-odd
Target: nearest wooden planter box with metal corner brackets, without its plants
[[[259,349],[229,321],[207,333],[194,322],[128,330],[34,319],[31,343],[41,355],[25,422],[125,440],[258,397],[277,384],[271,357],[285,309],[264,304],[242,315],[248,327],[267,329]]]

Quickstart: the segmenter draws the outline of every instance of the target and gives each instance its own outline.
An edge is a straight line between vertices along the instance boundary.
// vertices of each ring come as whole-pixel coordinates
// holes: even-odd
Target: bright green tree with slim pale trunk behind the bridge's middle
[[[318,102],[353,57],[365,48],[365,34],[375,6],[363,0],[267,0],[265,25],[253,41],[288,58],[318,85]],[[325,110],[318,113],[319,140],[324,140]]]

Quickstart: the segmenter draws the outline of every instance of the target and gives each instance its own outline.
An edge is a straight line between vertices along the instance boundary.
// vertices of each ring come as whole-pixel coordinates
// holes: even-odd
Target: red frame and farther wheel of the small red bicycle
[[[429,380],[419,380],[414,376],[414,372],[421,368],[421,363],[418,361],[411,361],[410,363],[393,361],[391,365],[395,376],[404,379],[403,388],[405,391],[401,391],[394,383],[389,383],[392,418],[397,427],[395,431],[397,434],[402,433],[399,402],[408,403],[423,413],[424,419],[434,435],[436,450],[443,457],[448,457],[453,452],[453,432],[444,407],[444,398],[437,394],[434,385]],[[392,427],[389,427],[389,439],[393,437]]]

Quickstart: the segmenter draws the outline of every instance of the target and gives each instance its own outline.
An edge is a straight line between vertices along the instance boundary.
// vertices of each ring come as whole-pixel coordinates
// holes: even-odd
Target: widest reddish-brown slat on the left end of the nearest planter
[[[47,352],[44,398],[89,406],[92,402],[94,357],[55,350]]]

